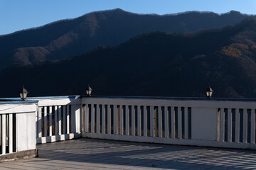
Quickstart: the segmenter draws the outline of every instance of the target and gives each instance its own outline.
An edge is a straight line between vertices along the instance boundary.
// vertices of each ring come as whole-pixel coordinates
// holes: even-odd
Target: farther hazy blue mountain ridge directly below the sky
[[[114,9],[88,13],[40,28],[0,36],[0,69],[11,64],[35,64],[61,60],[92,50],[99,45],[119,45],[136,35],[152,31],[181,33],[234,26],[247,15],[230,11],[186,12],[176,15],[139,15]]]

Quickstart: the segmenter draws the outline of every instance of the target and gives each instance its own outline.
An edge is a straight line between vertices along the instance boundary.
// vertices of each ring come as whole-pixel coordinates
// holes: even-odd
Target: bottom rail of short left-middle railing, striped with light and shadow
[[[82,134],[80,132],[70,133],[70,134],[65,134],[65,135],[38,137],[38,138],[36,138],[36,144],[52,143],[52,142],[58,142],[58,141],[63,141],[63,140],[72,140],[72,139],[79,138],[79,137],[82,137]]]

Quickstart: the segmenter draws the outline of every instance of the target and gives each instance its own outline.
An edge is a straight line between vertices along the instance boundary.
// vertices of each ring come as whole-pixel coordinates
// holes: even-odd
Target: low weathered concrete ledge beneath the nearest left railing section
[[[18,159],[27,159],[31,157],[38,157],[38,149],[31,149],[31,150],[1,155],[0,162],[14,161]]]

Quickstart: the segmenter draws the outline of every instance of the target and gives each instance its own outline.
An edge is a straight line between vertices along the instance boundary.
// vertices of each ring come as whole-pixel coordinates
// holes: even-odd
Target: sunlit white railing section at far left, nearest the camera
[[[35,115],[38,101],[0,101],[0,156],[1,161],[14,159],[15,152],[27,157],[36,155]],[[33,150],[33,152],[31,152]],[[20,154],[21,158],[22,155]]]

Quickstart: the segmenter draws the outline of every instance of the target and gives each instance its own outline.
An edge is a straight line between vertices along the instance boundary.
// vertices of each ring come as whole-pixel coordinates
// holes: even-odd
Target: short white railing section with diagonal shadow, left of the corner
[[[28,98],[38,100],[36,142],[56,142],[80,137],[80,107],[78,96]]]

